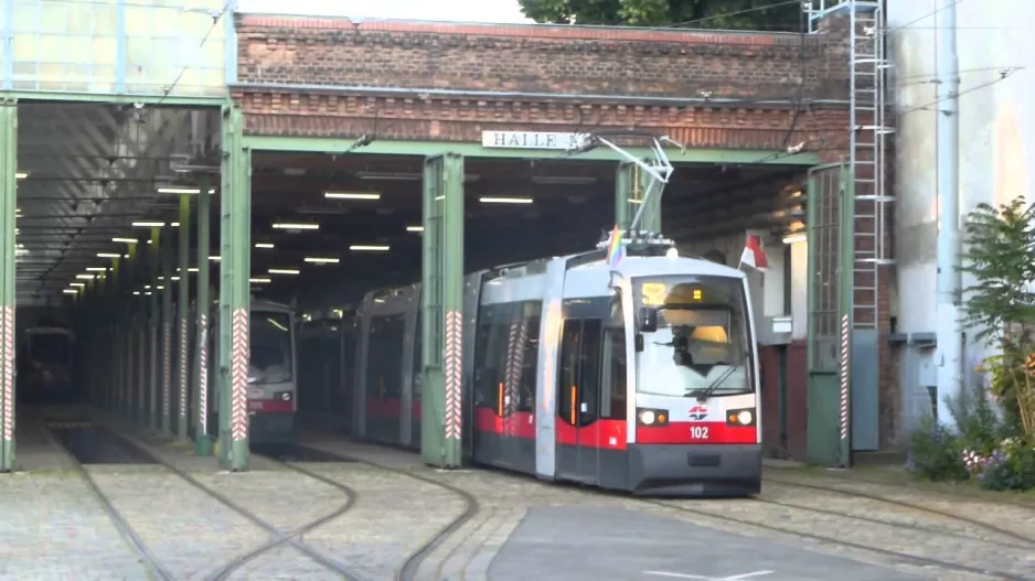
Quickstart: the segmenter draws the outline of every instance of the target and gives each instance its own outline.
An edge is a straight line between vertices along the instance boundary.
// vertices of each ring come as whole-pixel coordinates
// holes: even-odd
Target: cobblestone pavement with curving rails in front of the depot
[[[362,462],[299,464],[351,487],[356,494],[349,512],[305,534],[302,541],[346,563],[371,581],[394,578],[408,556],[436,538],[465,510],[460,494],[417,477],[466,491],[477,498],[480,508],[427,552],[417,579],[489,579],[493,557],[530,512],[568,506],[601,512],[620,507],[638,515],[677,519],[929,579],[969,581],[995,577],[907,563],[904,558],[846,547],[837,541],[1035,579],[1035,514],[990,499],[813,477],[794,471],[770,471],[775,478],[792,484],[767,483],[759,499],[796,506],[754,499],[652,503],[494,471],[436,471],[420,464],[414,454],[376,446],[332,441],[314,445],[385,466],[380,469]],[[254,464],[256,470],[231,474],[221,472],[213,459],[191,458],[182,449],[167,448],[161,454],[185,466],[204,486],[230,496],[286,531],[339,509],[348,499],[342,491],[329,484],[258,459]],[[204,579],[235,556],[269,539],[262,528],[163,467],[92,466],[88,470],[175,579]],[[817,491],[800,484],[832,489]],[[845,493],[881,496],[917,507]],[[925,507],[1006,528],[1031,537],[1032,542],[1025,544],[975,523],[931,514],[925,512]],[[0,579],[146,579],[136,553],[72,470],[0,475]],[[751,524],[773,526],[783,531],[766,530]],[[287,546],[253,559],[230,578],[338,579],[311,558]]]

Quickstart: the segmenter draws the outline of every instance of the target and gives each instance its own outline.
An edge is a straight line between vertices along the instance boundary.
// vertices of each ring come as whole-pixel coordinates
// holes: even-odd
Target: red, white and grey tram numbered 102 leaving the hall
[[[664,243],[664,244],[661,244]],[[761,488],[755,324],[745,275],[627,246],[468,275],[467,460],[650,495]],[[360,318],[356,435],[418,448],[419,286],[372,291]]]

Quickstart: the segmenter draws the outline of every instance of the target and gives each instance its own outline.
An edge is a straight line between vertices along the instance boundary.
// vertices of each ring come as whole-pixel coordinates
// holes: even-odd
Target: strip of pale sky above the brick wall
[[[531,22],[518,0],[238,0],[239,12],[465,22]]]

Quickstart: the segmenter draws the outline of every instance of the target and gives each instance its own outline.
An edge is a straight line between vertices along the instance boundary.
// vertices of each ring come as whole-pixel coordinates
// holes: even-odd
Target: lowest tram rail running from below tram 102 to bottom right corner
[[[1032,581],[1033,579],[1035,579],[1033,577],[1021,577],[1018,574],[1010,573],[1005,571],[996,571],[996,570],[984,569],[980,567],[971,567],[967,564],[936,559],[932,557],[922,557],[919,555],[913,555],[908,552],[885,549],[883,547],[874,547],[872,545],[864,545],[862,542],[855,542],[852,540],[846,540],[844,538],[835,538],[832,536],[821,535],[817,532],[807,532],[802,530],[796,530],[792,528],[780,527],[780,526],[771,525],[768,523],[760,523],[754,519],[735,518],[735,517],[730,517],[728,514],[703,510],[701,508],[691,508],[687,506],[682,506],[682,505],[672,504],[672,503],[662,502],[662,501],[640,498],[639,502],[653,505],[657,507],[661,507],[666,510],[676,510],[680,513],[690,514],[690,515],[694,515],[698,517],[712,518],[712,519],[721,520],[721,521],[732,524],[732,525],[755,527],[755,528],[768,530],[771,532],[779,532],[781,535],[790,535],[790,536],[794,536],[799,538],[807,538],[807,539],[811,539],[811,540],[819,541],[819,542],[826,544],[826,545],[839,545],[842,547],[847,547],[847,548],[860,550],[860,551],[866,551],[871,553],[881,555],[883,557],[896,559],[900,562],[908,562],[910,564],[916,564],[920,567],[935,567],[935,568],[939,568],[939,569],[947,570],[947,571],[979,574],[979,575],[984,575],[984,577],[993,577],[993,578],[1002,579],[1006,581]],[[843,515],[843,516],[845,516],[846,518],[854,518],[847,515]],[[884,525],[888,527],[893,527],[893,528],[896,527],[896,525],[887,524],[887,523],[885,523]],[[971,541],[991,542],[991,541],[981,541],[979,539],[971,539]],[[1028,550],[1028,548],[1022,548],[1020,550]]]

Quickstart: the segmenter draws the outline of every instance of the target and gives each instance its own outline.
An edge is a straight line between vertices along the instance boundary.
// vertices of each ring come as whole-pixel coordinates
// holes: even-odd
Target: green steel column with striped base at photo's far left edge
[[[18,103],[0,103],[0,472],[14,470],[14,227]]]

